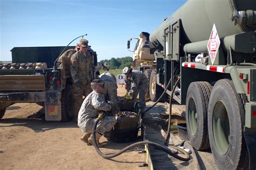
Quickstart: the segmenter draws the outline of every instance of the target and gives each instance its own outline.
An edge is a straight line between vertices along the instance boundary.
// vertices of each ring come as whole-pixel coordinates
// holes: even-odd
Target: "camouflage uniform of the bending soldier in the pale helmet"
[[[132,76],[126,80],[127,91],[130,91],[132,100],[135,101],[139,94],[139,104],[142,109],[146,107],[145,96],[147,93],[147,77],[139,70],[132,70]]]

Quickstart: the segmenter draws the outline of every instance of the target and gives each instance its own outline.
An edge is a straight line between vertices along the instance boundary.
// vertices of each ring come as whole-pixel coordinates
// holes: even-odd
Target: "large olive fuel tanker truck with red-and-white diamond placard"
[[[151,100],[174,93],[191,145],[220,169],[256,168],[255,47],[255,0],[188,0],[134,48]]]

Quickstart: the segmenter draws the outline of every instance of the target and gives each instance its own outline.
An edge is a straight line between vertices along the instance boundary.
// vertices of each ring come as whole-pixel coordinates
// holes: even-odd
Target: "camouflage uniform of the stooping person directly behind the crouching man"
[[[104,81],[105,99],[117,102],[117,79],[111,73],[103,73],[99,75],[100,80]]]

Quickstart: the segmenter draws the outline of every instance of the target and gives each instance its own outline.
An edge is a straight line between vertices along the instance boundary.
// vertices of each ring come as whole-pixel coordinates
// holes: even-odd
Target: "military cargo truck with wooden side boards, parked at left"
[[[73,48],[73,47],[68,47]],[[73,117],[70,58],[55,60],[64,47],[15,47],[12,63],[0,64],[0,118],[14,103],[37,103],[45,108],[46,121],[71,121]],[[91,48],[93,68],[97,54]]]

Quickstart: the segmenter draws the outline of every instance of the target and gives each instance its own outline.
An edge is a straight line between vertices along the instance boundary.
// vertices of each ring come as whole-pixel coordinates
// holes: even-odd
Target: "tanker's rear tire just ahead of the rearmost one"
[[[208,82],[192,82],[186,97],[187,134],[196,150],[210,148],[207,130],[207,109],[212,86]]]

